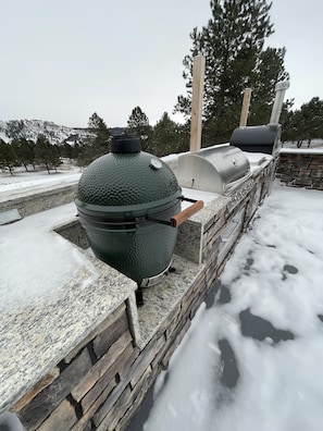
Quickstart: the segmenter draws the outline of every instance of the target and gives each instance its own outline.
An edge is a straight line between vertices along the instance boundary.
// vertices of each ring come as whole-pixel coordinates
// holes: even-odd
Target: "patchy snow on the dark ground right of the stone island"
[[[323,194],[258,210],[154,386],[145,431],[321,431]]]

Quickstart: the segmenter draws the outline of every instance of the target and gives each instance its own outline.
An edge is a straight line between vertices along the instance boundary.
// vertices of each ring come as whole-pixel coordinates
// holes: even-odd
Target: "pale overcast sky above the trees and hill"
[[[189,33],[209,0],[1,0],[0,120],[124,126],[136,106],[154,124],[185,94]],[[287,49],[287,98],[323,98],[323,1],[273,0],[272,47]],[[175,119],[175,118],[174,118]],[[233,125],[235,127],[236,125]]]

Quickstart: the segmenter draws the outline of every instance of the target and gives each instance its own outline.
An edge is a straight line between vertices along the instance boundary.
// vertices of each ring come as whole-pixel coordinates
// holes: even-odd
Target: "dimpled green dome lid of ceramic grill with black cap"
[[[76,204],[98,210],[136,210],[181,197],[182,189],[171,168],[140,151],[134,136],[114,137],[111,152],[90,163],[78,182]],[[109,207],[109,208],[107,208]],[[95,209],[95,208],[92,208]],[[103,208],[102,208],[103,210]]]

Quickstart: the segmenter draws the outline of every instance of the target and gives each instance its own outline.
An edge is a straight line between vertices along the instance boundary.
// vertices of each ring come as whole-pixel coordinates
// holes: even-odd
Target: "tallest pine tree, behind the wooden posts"
[[[284,49],[263,49],[273,33],[265,0],[211,0],[212,17],[199,32],[190,34],[192,48],[183,64],[187,96],[179,96],[175,111],[190,114],[191,67],[194,57],[206,57],[203,96],[203,140],[210,144],[227,140],[238,125],[241,94],[251,87],[250,118],[262,124],[263,109],[273,102],[274,86],[287,77],[284,69]],[[253,103],[254,101],[254,103]],[[262,108],[261,108],[262,107]]]

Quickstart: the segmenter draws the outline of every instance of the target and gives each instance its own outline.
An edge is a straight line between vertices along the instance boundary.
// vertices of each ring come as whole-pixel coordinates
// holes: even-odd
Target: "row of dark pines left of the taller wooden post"
[[[109,128],[104,120],[95,112],[88,121],[88,137],[74,145],[50,144],[44,135],[38,135],[36,143],[18,138],[7,144],[0,139],[0,169],[13,174],[15,167],[23,165],[26,171],[41,167],[50,173],[62,163],[62,158],[73,159],[78,167],[86,167],[109,152],[109,143],[114,132],[114,128]],[[186,151],[189,147],[188,124],[178,124],[164,112],[161,120],[151,126],[140,107],[133,109],[127,126],[119,130],[119,133],[138,136],[142,151],[152,152],[158,157]]]

